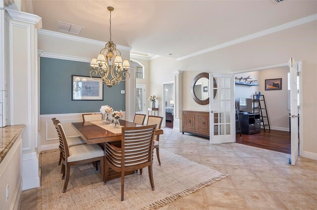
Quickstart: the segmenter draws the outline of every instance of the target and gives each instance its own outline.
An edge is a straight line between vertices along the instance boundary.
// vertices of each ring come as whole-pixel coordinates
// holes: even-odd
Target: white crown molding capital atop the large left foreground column
[[[21,11],[18,11],[15,9],[9,9],[9,8],[6,8],[5,10],[9,13],[10,17],[13,20],[35,24],[37,29],[42,28],[42,18],[38,15],[21,12]]]

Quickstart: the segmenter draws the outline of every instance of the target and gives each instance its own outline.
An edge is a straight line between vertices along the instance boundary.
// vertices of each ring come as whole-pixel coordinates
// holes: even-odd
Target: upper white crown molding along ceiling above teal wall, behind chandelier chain
[[[38,34],[46,35],[46,36],[50,36],[50,37],[61,38],[61,39],[66,39],[66,40],[71,40],[71,41],[76,41],[76,42],[84,42],[84,43],[89,43],[89,44],[95,44],[95,45],[99,45],[99,46],[103,46],[103,47],[106,45],[106,42],[102,42],[102,41],[98,41],[98,40],[92,40],[92,39],[83,38],[83,37],[77,37],[77,36],[74,36],[74,35],[69,35],[69,34],[49,31],[49,30],[45,30],[45,29],[39,30]],[[117,46],[117,49],[119,49],[119,50],[131,51],[131,49],[132,49],[129,46],[123,46],[123,45],[119,45],[119,44],[116,44],[116,46]]]

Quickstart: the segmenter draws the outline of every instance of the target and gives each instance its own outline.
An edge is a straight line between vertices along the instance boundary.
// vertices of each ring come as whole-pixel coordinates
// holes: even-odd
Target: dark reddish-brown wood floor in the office
[[[236,143],[291,154],[291,135],[288,131],[266,130],[264,132],[261,129],[260,133],[242,134],[242,137],[237,133]]]

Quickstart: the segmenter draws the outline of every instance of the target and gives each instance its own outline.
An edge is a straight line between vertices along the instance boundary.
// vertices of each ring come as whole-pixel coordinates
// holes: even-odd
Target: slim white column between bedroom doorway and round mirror
[[[174,83],[174,92],[175,92],[175,99],[174,99],[174,122],[173,122],[173,129],[177,131],[182,131],[183,125],[183,112],[182,112],[182,85],[183,85],[183,71],[178,70],[173,72],[175,83]]]

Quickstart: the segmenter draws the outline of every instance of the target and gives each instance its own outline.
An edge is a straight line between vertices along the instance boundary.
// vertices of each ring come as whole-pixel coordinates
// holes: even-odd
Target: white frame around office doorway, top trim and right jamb
[[[303,77],[302,77],[302,61],[297,61],[296,62],[299,65],[300,71],[301,71],[301,77],[299,77],[299,92],[300,92],[300,97],[299,97],[299,104],[300,110],[299,110],[299,138],[300,138],[300,156],[303,154]],[[260,70],[265,70],[265,69],[272,69],[272,68],[277,68],[277,67],[289,67],[288,62],[287,63],[281,63],[281,64],[276,64],[276,65],[270,65],[270,66],[264,66],[264,67],[258,67],[258,68],[252,68],[252,69],[245,69],[245,70],[239,70],[233,72],[233,74],[240,74],[240,73],[247,73],[247,72],[254,72],[254,71],[260,71]]]

